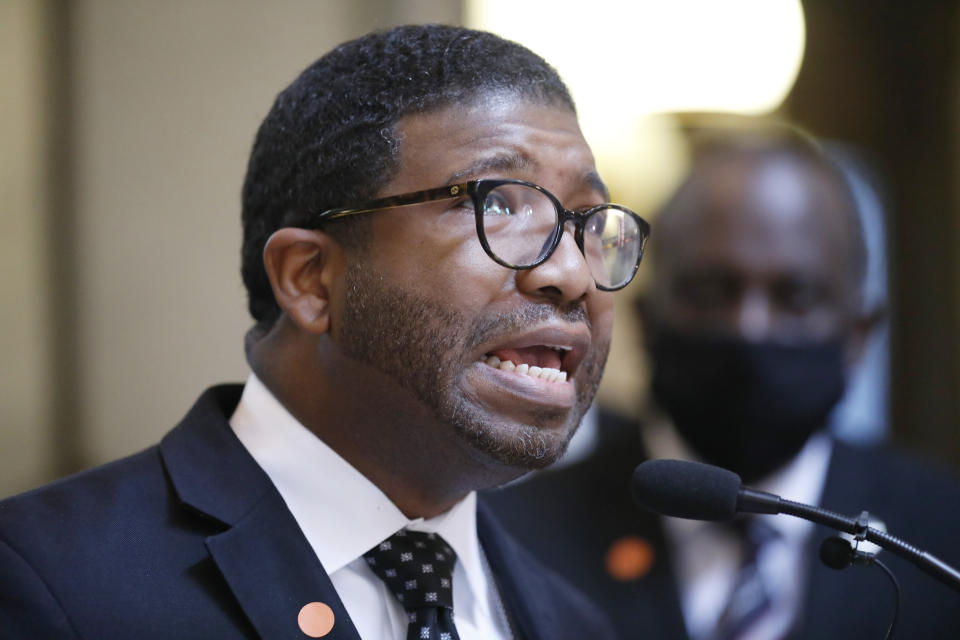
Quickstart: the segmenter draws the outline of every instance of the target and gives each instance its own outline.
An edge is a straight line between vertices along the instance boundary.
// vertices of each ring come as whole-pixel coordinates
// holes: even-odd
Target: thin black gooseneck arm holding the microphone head
[[[865,519],[850,518],[835,511],[821,509],[802,502],[785,500],[772,493],[746,487],[741,488],[737,495],[737,511],[764,514],[784,513],[852,534],[912,562],[943,584],[955,591],[960,591],[960,571],[933,554],[918,549],[886,531],[868,526]]]

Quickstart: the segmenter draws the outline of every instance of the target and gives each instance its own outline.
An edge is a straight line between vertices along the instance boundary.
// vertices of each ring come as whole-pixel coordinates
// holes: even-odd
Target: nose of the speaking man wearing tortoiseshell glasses
[[[517,287],[528,295],[560,304],[582,300],[597,290],[587,260],[574,239],[572,222],[564,225],[560,243],[543,264],[517,271]]]

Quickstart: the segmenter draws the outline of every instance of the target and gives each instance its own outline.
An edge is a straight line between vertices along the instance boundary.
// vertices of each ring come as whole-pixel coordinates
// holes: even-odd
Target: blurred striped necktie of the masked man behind
[[[715,640],[738,640],[743,638],[766,615],[773,604],[763,574],[757,566],[757,558],[765,544],[778,536],[770,525],[750,518],[734,523],[743,548],[740,572],[730,592],[730,598],[720,614]]]

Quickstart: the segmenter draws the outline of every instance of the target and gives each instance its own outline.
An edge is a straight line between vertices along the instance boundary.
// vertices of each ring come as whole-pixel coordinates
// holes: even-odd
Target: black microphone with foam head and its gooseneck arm
[[[868,540],[960,591],[960,571],[932,554],[868,526],[863,519],[744,487],[740,476],[727,469],[685,460],[648,460],[633,472],[630,492],[641,507],[688,520],[725,521],[737,513],[783,513],[803,518]]]

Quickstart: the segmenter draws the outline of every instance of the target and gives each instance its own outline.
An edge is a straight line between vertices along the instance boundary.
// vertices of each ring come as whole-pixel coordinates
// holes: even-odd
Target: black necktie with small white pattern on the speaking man
[[[401,529],[363,557],[407,610],[407,640],[459,640],[453,626],[457,554],[443,538]]]

